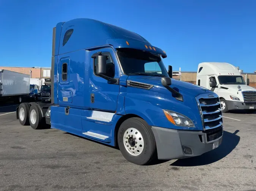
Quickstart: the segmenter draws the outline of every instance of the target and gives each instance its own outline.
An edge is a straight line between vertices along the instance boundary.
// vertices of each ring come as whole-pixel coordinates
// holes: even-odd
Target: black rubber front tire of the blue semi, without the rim
[[[138,156],[130,154],[124,145],[124,133],[127,133],[127,129],[136,128],[143,137],[144,147]],[[143,119],[133,117],[125,120],[118,129],[118,146],[123,154],[124,158],[137,165],[146,165],[157,157],[155,137],[151,130],[151,126]],[[136,150],[136,149],[135,149]],[[135,151],[136,152],[136,151]]]

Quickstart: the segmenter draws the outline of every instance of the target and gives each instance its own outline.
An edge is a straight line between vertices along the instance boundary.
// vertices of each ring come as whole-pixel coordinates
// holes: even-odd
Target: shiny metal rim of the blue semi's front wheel
[[[132,156],[140,155],[144,148],[143,137],[135,128],[129,128],[124,132],[123,143],[126,151]]]

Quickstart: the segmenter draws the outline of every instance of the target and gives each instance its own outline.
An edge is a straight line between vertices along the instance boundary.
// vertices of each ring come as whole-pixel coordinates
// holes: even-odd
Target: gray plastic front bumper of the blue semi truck
[[[155,126],[152,126],[152,131],[157,145],[158,159],[161,160],[199,156],[205,152],[211,151],[214,142],[218,141],[218,145],[220,145],[223,135],[222,129],[220,137],[207,142],[206,133],[203,131],[183,131]],[[185,154],[182,146],[191,148],[193,153]]]

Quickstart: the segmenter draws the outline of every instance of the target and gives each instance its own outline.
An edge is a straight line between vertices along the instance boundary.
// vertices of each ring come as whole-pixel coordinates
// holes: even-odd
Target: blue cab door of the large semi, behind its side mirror
[[[97,59],[92,56],[101,52],[107,55],[107,76],[119,79],[120,69],[115,51],[112,48],[102,48],[91,51],[90,62],[90,108],[102,111],[116,111],[119,94],[119,85],[111,84],[107,80],[96,75]]]

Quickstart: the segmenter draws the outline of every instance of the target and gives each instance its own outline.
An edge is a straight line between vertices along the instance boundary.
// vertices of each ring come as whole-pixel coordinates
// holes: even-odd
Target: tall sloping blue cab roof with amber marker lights
[[[63,45],[64,35],[69,30],[71,31],[71,36],[66,44]],[[166,57],[166,53],[162,49],[152,46],[141,35],[90,18],[75,18],[68,22],[58,23],[55,37],[54,55],[112,45],[114,48],[141,49],[160,54],[163,58]]]

